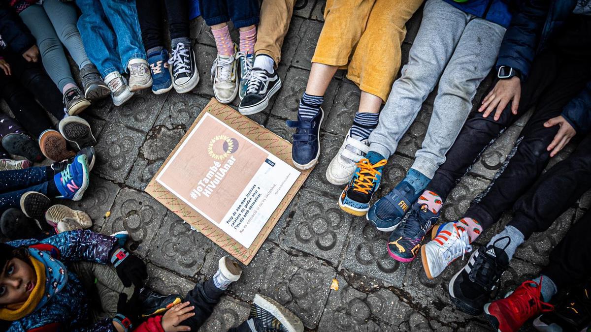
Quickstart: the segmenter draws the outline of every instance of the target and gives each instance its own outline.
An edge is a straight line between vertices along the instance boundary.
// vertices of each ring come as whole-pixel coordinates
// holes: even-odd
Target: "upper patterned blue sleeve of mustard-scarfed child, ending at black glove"
[[[115,248],[115,237],[92,232],[92,230],[73,230],[47,237],[39,243],[55,246],[63,261],[89,261],[107,263]]]

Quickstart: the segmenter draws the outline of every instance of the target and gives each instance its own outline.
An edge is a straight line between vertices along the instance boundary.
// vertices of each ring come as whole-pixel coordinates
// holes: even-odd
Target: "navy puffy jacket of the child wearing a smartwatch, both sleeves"
[[[496,61],[521,71],[526,78],[536,54],[544,50],[548,40],[564,25],[572,14],[576,0],[527,0],[513,15]],[[591,61],[589,63],[591,66]],[[568,103],[562,116],[576,129],[586,134],[591,129],[591,81]]]

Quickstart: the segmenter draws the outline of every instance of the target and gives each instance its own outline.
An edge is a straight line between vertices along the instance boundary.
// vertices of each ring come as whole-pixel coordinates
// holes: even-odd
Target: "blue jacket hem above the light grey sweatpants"
[[[448,4],[476,17],[484,18],[503,27],[508,27],[511,22],[510,0],[469,0],[467,2],[455,2],[443,0]]]

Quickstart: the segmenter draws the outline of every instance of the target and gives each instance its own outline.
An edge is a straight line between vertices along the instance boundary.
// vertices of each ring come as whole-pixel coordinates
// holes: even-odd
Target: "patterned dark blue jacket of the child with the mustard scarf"
[[[115,248],[116,239],[94,233],[90,230],[75,230],[38,240],[17,240],[8,242],[15,247],[35,246],[47,250],[59,261],[66,264],[76,261],[90,261],[106,264]],[[47,304],[33,313],[12,322],[8,331],[98,331],[115,332],[112,320],[89,323],[89,306],[82,283],[71,269],[67,271],[66,287],[51,297]]]

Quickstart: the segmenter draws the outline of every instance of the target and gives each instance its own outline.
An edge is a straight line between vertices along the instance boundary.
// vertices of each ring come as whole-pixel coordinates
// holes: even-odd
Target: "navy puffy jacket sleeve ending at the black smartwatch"
[[[550,0],[521,2],[501,43],[497,69],[509,66],[519,70],[524,79],[528,76],[550,4]]]

